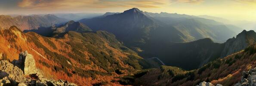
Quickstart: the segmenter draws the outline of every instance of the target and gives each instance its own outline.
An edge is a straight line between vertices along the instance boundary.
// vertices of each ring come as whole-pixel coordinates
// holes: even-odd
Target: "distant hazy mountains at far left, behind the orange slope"
[[[62,22],[67,22],[64,18],[59,18],[55,15],[19,15],[16,17],[11,17],[9,15],[0,15],[0,27],[9,28],[12,25],[17,26],[22,31],[37,29],[39,27],[50,27]]]

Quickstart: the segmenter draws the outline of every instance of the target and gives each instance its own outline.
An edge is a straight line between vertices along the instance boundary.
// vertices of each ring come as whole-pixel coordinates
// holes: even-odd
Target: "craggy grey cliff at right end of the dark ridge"
[[[254,31],[242,31],[236,38],[228,39],[225,42],[225,47],[221,53],[221,58],[239,52],[245,49],[248,45],[256,41],[256,33]]]

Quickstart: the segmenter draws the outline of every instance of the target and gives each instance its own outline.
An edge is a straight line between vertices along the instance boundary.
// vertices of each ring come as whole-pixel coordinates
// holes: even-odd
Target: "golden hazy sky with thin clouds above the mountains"
[[[211,15],[256,21],[256,0],[0,0],[0,14],[146,12]]]

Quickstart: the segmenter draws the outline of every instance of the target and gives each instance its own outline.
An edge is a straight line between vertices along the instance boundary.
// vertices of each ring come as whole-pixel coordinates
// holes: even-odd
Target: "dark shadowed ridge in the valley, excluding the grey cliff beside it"
[[[219,58],[224,44],[214,43],[206,38],[190,43],[174,43],[157,47],[160,48],[152,50],[166,65],[191,70]]]

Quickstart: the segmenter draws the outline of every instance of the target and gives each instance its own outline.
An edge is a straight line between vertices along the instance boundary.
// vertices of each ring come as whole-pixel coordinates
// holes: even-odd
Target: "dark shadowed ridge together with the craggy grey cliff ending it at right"
[[[248,45],[255,43],[256,33],[254,31],[242,31],[225,43],[214,43],[211,39],[201,39],[189,43],[160,43],[146,45],[148,51],[140,54],[154,52],[166,65],[180,67],[186,70],[200,68],[202,65],[217,58],[223,58],[235,52],[239,52]]]

